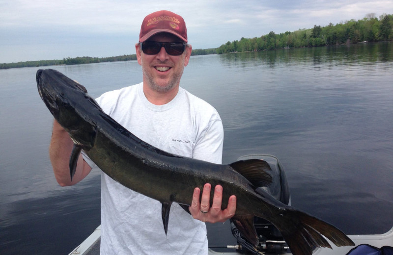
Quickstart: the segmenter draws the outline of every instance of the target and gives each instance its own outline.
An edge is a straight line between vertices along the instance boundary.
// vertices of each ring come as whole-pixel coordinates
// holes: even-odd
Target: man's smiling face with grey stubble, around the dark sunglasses
[[[181,40],[169,33],[159,33],[151,36],[148,41],[155,42],[181,42]],[[191,46],[186,47],[183,54],[172,56],[165,51],[164,47],[155,54],[147,55],[140,50],[140,44],[136,46],[138,63],[142,66],[143,82],[150,89],[157,92],[167,92],[177,87],[183,74],[184,67],[188,65],[191,55]]]

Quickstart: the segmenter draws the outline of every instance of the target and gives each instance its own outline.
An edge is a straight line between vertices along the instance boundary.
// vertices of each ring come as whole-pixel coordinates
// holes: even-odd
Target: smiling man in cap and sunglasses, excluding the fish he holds
[[[142,22],[135,46],[143,82],[103,94],[97,102],[123,127],[143,141],[169,153],[221,163],[223,126],[217,111],[182,89],[180,78],[192,47],[181,16],[169,11],[149,14]],[[73,185],[91,171],[94,163],[80,156],[71,181],[68,159],[72,141],[55,121],[50,157],[56,180]],[[161,204],[136,193],[102,173],[101,254],[207,254],[203,222],[224,222],[236,210],[236,197],[221,209],[221,186],[216,186],[210,208],[210,184],[200,199],[196,188],[188,214],[178,204],[170,209],[168,234],[161,220]],[[199,201],[200,200],[200,201]],[[194,219],[193,219],[194,218]]]

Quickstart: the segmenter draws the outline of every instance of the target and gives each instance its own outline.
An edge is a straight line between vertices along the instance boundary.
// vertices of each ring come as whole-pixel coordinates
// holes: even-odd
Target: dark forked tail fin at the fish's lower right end
[[[281,214],[283,219],[275,224],[281,232],[293,255],[311,255],[316,247],[332,248],[328,238],[336,246],[354,246],[355,244],[341,230],[307,213],[286,208]]]

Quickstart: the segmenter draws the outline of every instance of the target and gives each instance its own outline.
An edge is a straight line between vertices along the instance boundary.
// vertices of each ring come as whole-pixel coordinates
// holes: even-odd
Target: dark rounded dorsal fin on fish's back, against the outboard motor
[[[239,160],[229,164],[233,170],[247,178],[255,187],[269,186],[273,178],[267,173],[272,169],[262,159]]]

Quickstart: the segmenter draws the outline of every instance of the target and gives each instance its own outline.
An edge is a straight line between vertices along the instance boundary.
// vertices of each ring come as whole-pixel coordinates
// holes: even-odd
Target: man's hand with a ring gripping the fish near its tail
[[[211,185],[206,183],[203,187],[202,198],[200,199],[200,189],[195,188],[193,194],[193,202],[189,207],[191,215],[194,219],[203,222],[225,222],[227,219],[233,217],[236,212],[236,196],[229,197],[228,206],[224,210],[221,209],[223,200],[223,187],[217,185],[214,189],[213,204],[210,207],[210,190]]]

